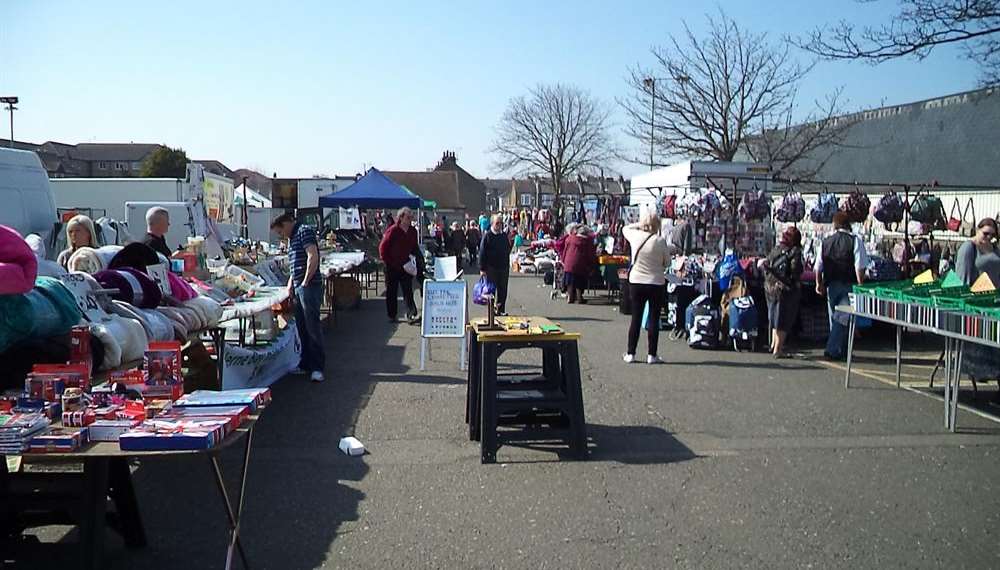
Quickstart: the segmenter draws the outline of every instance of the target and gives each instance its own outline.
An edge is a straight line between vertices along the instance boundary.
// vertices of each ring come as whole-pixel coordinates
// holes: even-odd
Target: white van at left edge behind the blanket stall
[[[56,203],[38,155],[0,148],[0,224],[22,236],[38,234],[49,243],[56,222]]]

